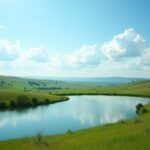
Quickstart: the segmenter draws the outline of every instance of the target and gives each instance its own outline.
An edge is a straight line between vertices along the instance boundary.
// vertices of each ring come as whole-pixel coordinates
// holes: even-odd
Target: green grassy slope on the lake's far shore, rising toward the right
[[[53,92],[54,94],[120,94],[137,95],[150,97],[150,81],[139,81],[121,85],[93,86],[83,88],[61,89]]]

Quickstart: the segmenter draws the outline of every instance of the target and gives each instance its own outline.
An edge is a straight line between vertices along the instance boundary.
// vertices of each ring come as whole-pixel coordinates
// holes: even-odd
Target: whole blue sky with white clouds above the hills
[[[0,74],[150,78],[149,0],[0,0]]]

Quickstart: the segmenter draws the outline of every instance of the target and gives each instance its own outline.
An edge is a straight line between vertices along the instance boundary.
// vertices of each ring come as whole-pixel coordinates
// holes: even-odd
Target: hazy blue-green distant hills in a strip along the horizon
[[[0,88],[68,88],[76,84],[87,85],[111,85],[136,81],[148,80],[146,78],[125,78],[125,77],[13,77],[0,75]],[[76,85],[77,86],[77,85]],[[78,85],[79,86],[79,85]]]

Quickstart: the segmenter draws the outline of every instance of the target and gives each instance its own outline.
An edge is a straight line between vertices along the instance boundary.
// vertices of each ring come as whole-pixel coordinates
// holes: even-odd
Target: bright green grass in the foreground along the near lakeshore
[[[147,150],[150,149],[150,104],[148,113],[139,118],[114,124],[45,136],[46,145],[36,144],[33,138],[0,142],[1,150]]]

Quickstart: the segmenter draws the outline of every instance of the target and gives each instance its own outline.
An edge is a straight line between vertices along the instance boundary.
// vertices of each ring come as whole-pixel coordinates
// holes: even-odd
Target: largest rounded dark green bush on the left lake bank
[[[17,106],[28,107],[31,105],[29,98],[26,95],[19,95],[17,97]]]

